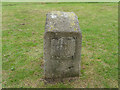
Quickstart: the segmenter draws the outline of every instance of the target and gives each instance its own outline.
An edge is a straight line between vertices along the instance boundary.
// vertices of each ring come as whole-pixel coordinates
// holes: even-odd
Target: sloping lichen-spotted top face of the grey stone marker
[[[46,16],[45,32],[81,32],[73,12],[52,11]]]

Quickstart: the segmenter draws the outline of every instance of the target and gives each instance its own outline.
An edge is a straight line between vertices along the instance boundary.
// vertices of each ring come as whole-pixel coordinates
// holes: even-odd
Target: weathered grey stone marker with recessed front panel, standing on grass
[[[73,12],[48,13],[44,34],[45,78],[80,74],[82,34]]]

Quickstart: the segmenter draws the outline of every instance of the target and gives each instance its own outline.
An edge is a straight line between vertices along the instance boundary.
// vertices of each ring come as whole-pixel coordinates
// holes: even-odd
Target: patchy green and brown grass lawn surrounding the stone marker
[[[44,83],[46,13],[74,12],[82,30],[81,76]],[[3,88],[118,87],[118,3],[3,3]]]

